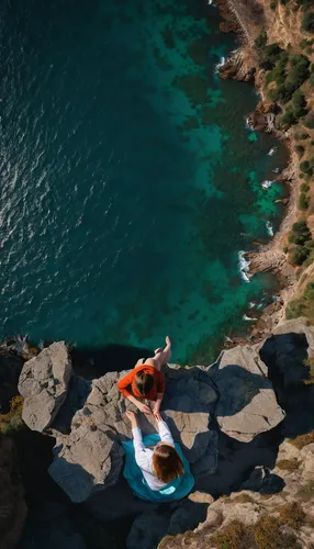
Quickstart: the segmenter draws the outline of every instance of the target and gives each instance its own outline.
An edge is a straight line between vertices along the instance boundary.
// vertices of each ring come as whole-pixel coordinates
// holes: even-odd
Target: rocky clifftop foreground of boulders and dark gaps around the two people
[[[86,359],[82,376],[81,361],[65,341],[40,349],[25,338],[11,339],[0,346],[0,357],[8,385],[1,410],[20,393],[24,422],[18,432],[12,427],[0,435],[0,475],[4,462],[8,468],[7,440],[18,445],[22,471],[19,480],[10,458],[15,469],[9,466],[14,477],[5,493],[14,494],[19,505],[5,523],[9,539],[11,525],[19,529],[14,542],[1,548],[29,549],[32,542],[34,549],[108,544],[170,549],[186,547],[192,531],[198,544],[191,547],[203,547],[205,535],[204,547],[220,549],[224,546],[215,544],[215,536],[226,528],[236,524],[242,531],[250,525],[253,536],[261,519],[277,516],[284,505],[298,508],[302,520],[294,528],[280,518],[278,536],[288,528],[292,547],[312,547],[314,384],[304,360],[314,358],[314,328],[306,318],[281,322],[270,337],[224,350],[212,365],[165,366],[162,415],[195,479],[189,497],[171,504],[136,498],[123,479],[121,442],[132,436],[124,412],[133,404],[121,396],[116,381],[125,371],[94,377]],[[15,367],[13,377],[9,365]],[[149,416],[141,416],[141,427],[144,434],[156,432]],[[1,536],[2,530],[2,541]]]

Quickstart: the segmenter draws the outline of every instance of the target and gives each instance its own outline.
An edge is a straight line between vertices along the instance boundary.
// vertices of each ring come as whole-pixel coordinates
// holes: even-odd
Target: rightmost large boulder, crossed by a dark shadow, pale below
[[[267,367],[253,347],[237,346],[221,354],[210,369],[220,400],[215,410],[223,433],[249,442],[284,418]]]

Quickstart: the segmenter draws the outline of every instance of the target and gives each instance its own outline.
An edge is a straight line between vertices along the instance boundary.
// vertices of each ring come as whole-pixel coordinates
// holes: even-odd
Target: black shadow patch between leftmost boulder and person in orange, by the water
[[[74,348],[71,351],[76,373],[94,379],[108,372],[131,370],[139,358],[153,357],[154,351],[144,347],[110,344],[101,348]]]

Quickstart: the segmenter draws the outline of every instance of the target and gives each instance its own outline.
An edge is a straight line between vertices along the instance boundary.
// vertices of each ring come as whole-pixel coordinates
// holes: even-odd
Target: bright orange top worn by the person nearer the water
[[[149,394],[146,396],[139,394],[135,385],[135,376],[137,372],[143,370],[146,373],[150,373],[150,376],[154,376],[155,379],[155,384]],[[154,401],[158,393],[165,393],[165,376],[164,373],[160,372],[160,370],[154,368],[154,366],[141,365],[134,368],[130,373],[127,373],[124,378],[122,378],[117,382],[117,389],[122,394],[124,394],[124,396],[133,395],[136,396],[137,399],[146,399],[148,401]]]

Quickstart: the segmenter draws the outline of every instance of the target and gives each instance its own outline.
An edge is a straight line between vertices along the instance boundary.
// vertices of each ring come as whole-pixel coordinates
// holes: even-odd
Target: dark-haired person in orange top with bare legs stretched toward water
[[[159,417],[160,404],[165,393],[165,376],[161,372],[171,357],[171,340],[166,337],[166,347],[155,350],[153,358],[147,358],[144,365],[136,366],[130,373],[117,382],[119,391],[124,394],[144,414]],[[152,401],[150,407],[143,402]]]

